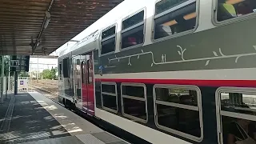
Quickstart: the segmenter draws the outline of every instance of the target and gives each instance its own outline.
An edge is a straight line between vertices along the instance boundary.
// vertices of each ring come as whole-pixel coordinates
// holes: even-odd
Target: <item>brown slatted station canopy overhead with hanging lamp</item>
[[[122,1],[0,0],[0,54],[50,54]]]

